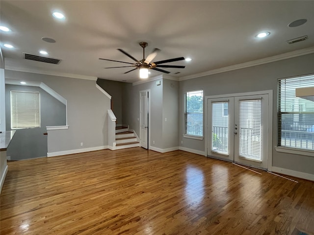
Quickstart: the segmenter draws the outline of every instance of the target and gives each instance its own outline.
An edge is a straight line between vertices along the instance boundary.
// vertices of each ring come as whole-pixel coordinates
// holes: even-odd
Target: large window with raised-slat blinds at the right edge
[[[295,96],[297,88],[314,87],[314,75],[278,83],[278,146],[314,150],[314,101]]]

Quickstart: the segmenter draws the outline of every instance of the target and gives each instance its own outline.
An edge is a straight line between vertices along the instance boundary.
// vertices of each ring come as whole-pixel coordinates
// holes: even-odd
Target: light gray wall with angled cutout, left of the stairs
[[[110,99],[96,88],[96,81],[9,70],[5,78],[43,82],[67,100],[69,129],[48,131],[48,153],[108,144]]]

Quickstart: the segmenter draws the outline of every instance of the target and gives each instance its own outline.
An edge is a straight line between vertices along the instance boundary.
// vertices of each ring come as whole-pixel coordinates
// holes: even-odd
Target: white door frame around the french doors
[[[209,130],[209,117],[208,117],[208,103],[210,99],[226,98],[226,97],[235,97],[235,96],[246,96],[246,95],[262,95],[268,94],[268,133],[267,133],[267,170],[272,171],[272,139],[273,139],[273,91],[258,91],[258,92],[246,92],[246,93],[235,93],[235,94],[219,94],[219,95],[207,95],[205,96],[205,157],[208,157],[210,152],[210,146],[208,146],[208,130]]]

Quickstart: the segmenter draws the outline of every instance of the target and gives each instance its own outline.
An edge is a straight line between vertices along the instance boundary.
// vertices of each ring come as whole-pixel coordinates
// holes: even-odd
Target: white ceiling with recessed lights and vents
[[[65,21],[52,17],[59,10]],[[298,27],[288,24],[307,19]],[[118,62],[133,61],[117,50],[122,48],[136,59],[142,59],[139,42],[145,41],[148,55],[161,49],[154,61],[190,57],[185,69],[164,69],[174,77],[188,78],[219,68],[259,60],[283,53],[314,51],[314,1],[119,1],[119,0],[40,0],[0,1],[0,24],[11,29],[0,32],[5,69],[45,71],[47,74],[78,74],[110,80],[138,81],[138,71]],[[270,35],[255,36],[261,31]],[[286,41],[308,35],[309,39],[289,45]],[[44,42],[49,37],[56,43]],[[8,43],[15,48],[8,49]],[[62,61],[59,65],[23,59],[23,52],[39,54]],[[163,68],[161,68],[163,69]],[[180,71],[179,74],[174,74]],[[162,74],[152,71],[150,76]]]

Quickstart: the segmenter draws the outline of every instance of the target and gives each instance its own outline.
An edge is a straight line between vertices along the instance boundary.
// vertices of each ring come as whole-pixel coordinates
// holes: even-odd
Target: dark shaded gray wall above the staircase
[[[117,124],[126,124],[122,123],[122,87],[125,83],[98,78],[97,84],[111,95],[112,111]]]

